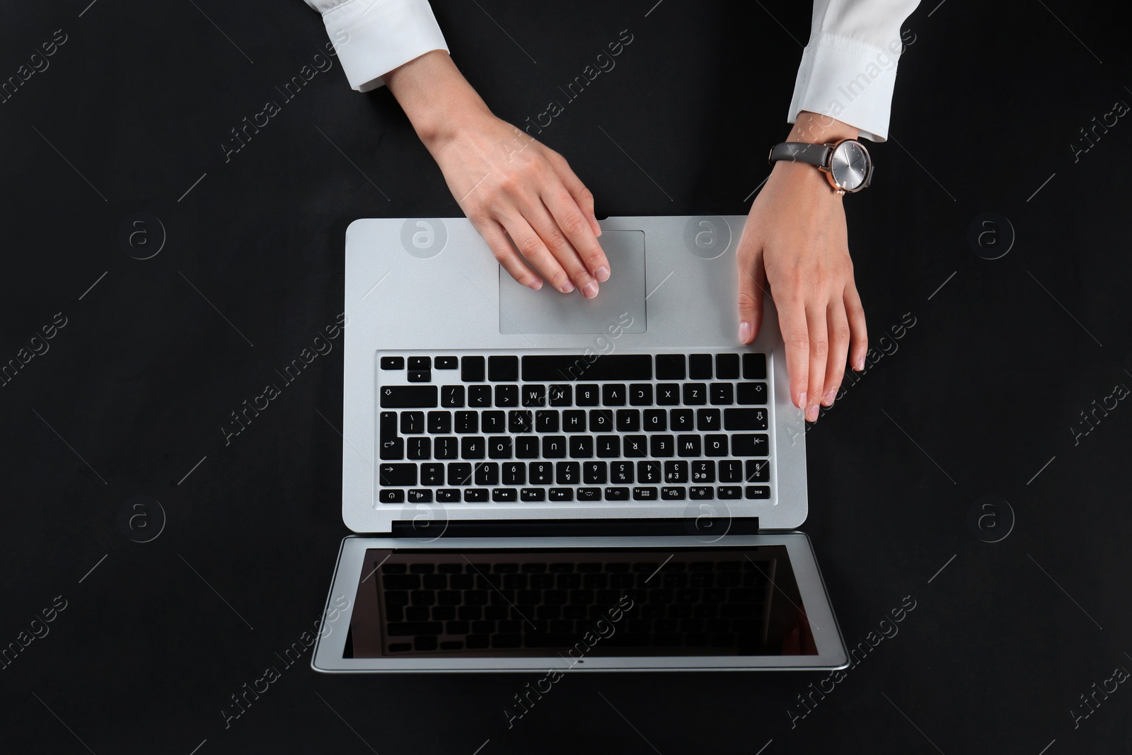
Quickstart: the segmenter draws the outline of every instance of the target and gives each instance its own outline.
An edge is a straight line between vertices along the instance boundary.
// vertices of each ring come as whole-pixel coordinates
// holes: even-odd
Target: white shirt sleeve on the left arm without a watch
[[[323,15],[350,86],[369,92],[381,77],[431,50],[448,52],[428,0],[307,0]]]

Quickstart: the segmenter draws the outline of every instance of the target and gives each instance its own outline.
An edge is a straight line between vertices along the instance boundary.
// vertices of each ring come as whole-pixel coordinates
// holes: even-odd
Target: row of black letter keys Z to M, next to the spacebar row
[[[765,404],[765,383],[568,383],[541,385],[392,385],[383,409],[490,406],[715,406]]]

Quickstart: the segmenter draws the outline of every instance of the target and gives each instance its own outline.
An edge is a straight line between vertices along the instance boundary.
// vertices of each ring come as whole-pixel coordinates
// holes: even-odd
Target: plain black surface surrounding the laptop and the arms
[[[336,320],[352,220],[460,211],[388,92],[352,92],[336,61],[224,161],[327,42],[299,0],[87,1],[18,3],[0,28],[3,79],[67,35],[0,105],[0,357],[67,318],[0,387],[0,644],[67,601],[0,669],[0,750],[1132,750],[1127,685],[1071,713],[1132,668],[1132,405],[1071,429],[1132,386],[1132,127],[1070,147],[1132,102],[1114,19],[929,0],[903,25],[893,138],[846,206],[872,342],[916,324],[808,432],[804,530],[849,645],[916,608],[805,718],[788,711],[825,675],[567,675],[508,729],[535,675],[321,676],[303,657],[225,729],[230,696],[319,618],[346,534],[341,340],[230,445],[220,427]],[[809,8],[654,3],[436,12],[513,122],[628,29],[542,140],[599,216],[746,213],[789,130]],[[118,240],[137,212],[168,234],[152,259]],[[1000,259],[966,240],[981,213],[1017,234]],[[137,495],[168,515],[146,543],[118,523]],[[968,523],[988,495],[1017,517],[995,543],[977,534],[1009,529],[1002,505]]]

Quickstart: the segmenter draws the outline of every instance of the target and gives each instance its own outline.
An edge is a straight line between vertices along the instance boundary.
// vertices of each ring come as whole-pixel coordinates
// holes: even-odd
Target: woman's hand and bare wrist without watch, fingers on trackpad
[[[504,269],[532,289],[544,278],[563,293],[597,297],[609,260],[593,195],[566,160],[492,115],[444,51],[385,81]]]

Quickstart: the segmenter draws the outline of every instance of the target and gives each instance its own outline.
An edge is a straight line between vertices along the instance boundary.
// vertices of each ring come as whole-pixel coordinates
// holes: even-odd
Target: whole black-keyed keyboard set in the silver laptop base
[[[378,501],[770,500],[755,352],[378,354]]]

